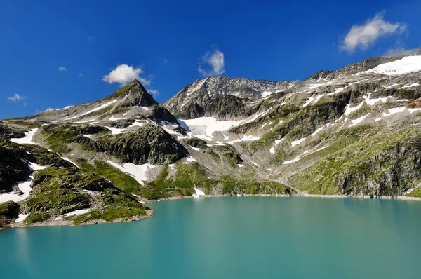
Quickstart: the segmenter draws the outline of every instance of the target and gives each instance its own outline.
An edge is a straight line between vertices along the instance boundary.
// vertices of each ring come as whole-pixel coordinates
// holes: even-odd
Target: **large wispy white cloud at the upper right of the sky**
[[[373,45],[377,39],[392,34],[401,34],[406,29],[402,22],[387,22],[383,20],[385,12],[377,13],[363,25],[353,25],[340,46],[341,50],[353,52],[356,48],[365,50]]]

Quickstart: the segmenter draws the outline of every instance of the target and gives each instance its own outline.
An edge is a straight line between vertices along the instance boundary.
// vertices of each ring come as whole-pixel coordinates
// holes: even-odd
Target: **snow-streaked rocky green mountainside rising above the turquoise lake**
[[[4,120],[0,224],[140,218],[147,200],[203,194],[421,196],[420,54],[305,81],[208,77],[165,104],[133,81]]]

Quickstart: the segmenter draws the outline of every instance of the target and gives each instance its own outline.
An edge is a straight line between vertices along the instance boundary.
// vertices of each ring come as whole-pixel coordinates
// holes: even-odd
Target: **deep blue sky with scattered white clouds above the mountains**
[[[159,102],[206,75],[305,79],[419,48],[420,14],[420,0],[0,0],[0,118],[92,102],[133,76]]]

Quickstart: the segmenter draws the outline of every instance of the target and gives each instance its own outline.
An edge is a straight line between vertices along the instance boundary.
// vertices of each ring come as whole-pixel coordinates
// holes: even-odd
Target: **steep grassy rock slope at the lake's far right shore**
[[[309,193],[401,196],[421,183],[421,128],[377,128],[290,177]]]

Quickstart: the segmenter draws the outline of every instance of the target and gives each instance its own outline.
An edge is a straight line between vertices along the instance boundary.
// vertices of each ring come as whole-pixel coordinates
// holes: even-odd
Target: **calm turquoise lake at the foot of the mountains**
[[[421,203],[187,198],[154,217],[0,231],[0,278],[421,278]]]

